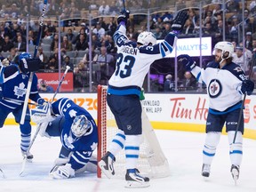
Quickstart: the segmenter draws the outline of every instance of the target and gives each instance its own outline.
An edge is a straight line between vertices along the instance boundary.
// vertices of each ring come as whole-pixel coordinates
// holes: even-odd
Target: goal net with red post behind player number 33
[[[117,125],[114,115],[111,113],[107,104],[108,86],[98,85],[98,115],[97,124],[99,129],[99,145],[97,149],[97,159],[105,155],[108,145],[116,135]],[[143,142],[140,144],[140,157],[138,169],[141,174],[149,178],[161,178],[170,175],[170,169],[167,159],[159,145],[156,134],[149,123],[148,116],[142,110],[142,135]],[[150,140],[150,142],[148,142]],[[125,155],[124,149],[116,156],[114,164],[115,177],[124,178],[125,175]],[[101,171],[98,167],[97,176],[101,177]],[[103,174],[102,174],[103,176]]]

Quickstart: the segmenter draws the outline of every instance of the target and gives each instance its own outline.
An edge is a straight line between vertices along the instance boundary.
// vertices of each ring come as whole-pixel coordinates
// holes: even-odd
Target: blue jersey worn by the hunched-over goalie
[[[72,151],[93,151],[98,144],[98,130],[92,116],[84,108],[79,107],[73,100],[62,98],[52,103],[54,114],[65,116],[60,140],[65,148]],[[76,138],[71,132],[71,124],[76,116],[84,115],[91,122],[92,127],[85,136]]]

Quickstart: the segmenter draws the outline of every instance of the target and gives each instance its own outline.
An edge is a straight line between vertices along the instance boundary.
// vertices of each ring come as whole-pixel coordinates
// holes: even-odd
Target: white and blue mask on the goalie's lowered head
[[[89,129],[92,127],[91,122],[87,119],[86,116],[76,116],[76,118],[73,121],[73,124],[71,125],[71,132],[76,137],[82,137],[86,133],[88,133]],[[92,129],[91,129],[92,130]],[[91,132],[90,132],[91,133]],[[86,134],[86,135],[87,135]]]

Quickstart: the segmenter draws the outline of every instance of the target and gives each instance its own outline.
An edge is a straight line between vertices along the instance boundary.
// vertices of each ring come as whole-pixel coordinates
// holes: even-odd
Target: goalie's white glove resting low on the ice
[[[59,166],[56,171],[52,172],[52,177],[58,180],[75,177],[75,170],[72,169],[71,164],[65,164]]]

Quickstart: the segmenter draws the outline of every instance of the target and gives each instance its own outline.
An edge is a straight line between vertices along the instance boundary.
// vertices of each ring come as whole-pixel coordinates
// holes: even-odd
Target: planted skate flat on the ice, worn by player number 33
[[[149,184],[149,178],[143,177],[139,174],[138,169],[128,169],[125,175],[127,181],[126,188],[147,188]]]

